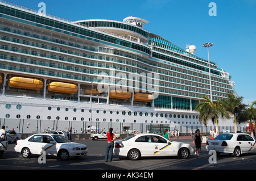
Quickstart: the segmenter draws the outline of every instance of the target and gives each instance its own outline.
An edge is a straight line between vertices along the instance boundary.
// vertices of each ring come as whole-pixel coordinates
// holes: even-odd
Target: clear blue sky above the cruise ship
[[[22,0],[11,2],[39,10],[46,3],[46,12],[71,20],[110,19],[122,21],[136,16],[149,21],[149,32],[185,49],[193,44],[196,56],[218,64],[232,76],[234,89],[243,102],[256,100],[256,1],[255,0]],[[210,16],[209,3],[216,3],[216,16]]]

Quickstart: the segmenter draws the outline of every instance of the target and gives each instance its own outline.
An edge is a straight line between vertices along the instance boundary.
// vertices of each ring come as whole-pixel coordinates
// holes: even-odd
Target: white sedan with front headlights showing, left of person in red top
[[[46,155],[55,155],[61,160],[88,153],[86,145],[71,142],[59,134],[33,134],[25,140],[18,140],[14,150],[24,158],[29,158],[31,154],[41,155],[46,151]]]

